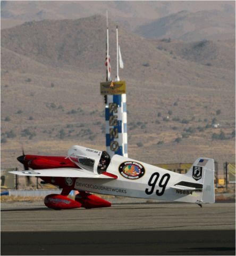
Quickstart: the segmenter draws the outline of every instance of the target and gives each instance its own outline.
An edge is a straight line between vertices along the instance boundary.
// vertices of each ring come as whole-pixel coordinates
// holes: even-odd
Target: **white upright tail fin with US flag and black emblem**
[[[184,174],[192,178],[192,182],[203,184],[203,193],[196,203],[215,203],[214,188],[214,160],[211,158],[198,158],[189,171]]]

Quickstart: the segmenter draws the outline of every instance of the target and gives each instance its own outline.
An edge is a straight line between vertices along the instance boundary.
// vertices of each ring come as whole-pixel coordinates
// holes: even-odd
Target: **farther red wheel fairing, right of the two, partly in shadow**
[[[89,194],[85,191],[80,191],[78,195],[75,196],[75,201],[81,203],[81,207],[87,209],[99,208],[99,207],[110,207],[112,204],[103,198]]]

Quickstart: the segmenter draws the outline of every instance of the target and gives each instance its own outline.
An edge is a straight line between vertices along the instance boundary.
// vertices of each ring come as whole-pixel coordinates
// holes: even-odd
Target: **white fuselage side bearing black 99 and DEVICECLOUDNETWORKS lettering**
[[[106,172],[116,175],[117,179],[78,178],[74,188],[97,194],[179,202],[196,202],[201,194],[200,191],[188,191],[183,194],[182,191],[172,188],[179,181],[192,182],[191,178],[183,174],[119,155],[112,157]]]

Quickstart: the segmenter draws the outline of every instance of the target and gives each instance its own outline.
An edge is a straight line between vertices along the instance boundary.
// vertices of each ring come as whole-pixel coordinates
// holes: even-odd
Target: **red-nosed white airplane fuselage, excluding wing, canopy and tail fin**
[[[21,160],[24,165],[34,170],[60,167],[79,169],[76,163],[65,156],[25,155]],[[191,182],[191,178],[119,155],[112,157],[106,172],[100,175],[101,179],[70,178],[70,189],[105,195],[179,202],[196,202],[200,196],[200,191],[182,193],[181,190],[173,188],[179,181]],[[102,179],[103,175],[110,175],[111,179]],[[46,183],[68,188],[68,182],[63,177],[40,178]]]

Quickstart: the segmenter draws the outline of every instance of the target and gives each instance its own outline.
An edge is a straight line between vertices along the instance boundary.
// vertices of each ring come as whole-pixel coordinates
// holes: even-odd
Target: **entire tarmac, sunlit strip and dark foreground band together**
[[[1,255],[235,255],[235,203],[1,204]]]

